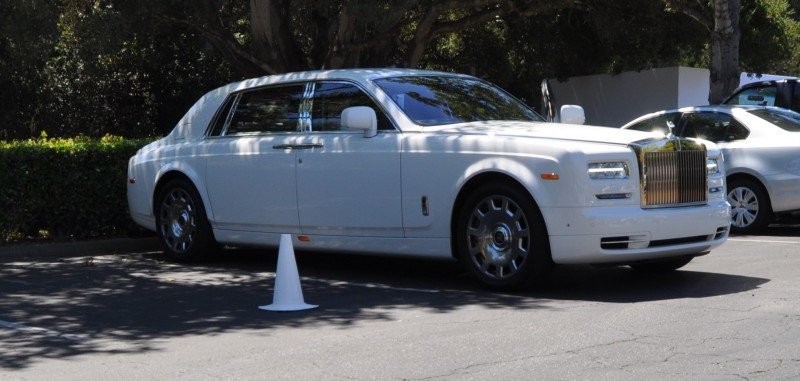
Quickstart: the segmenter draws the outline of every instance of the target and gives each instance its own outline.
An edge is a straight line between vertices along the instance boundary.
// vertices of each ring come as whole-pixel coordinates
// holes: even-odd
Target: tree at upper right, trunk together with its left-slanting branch
[[[721,103],[739,85],[740,0],[664,0],[672,9],[700,23],[711,33],[711,88],[708,102]]]

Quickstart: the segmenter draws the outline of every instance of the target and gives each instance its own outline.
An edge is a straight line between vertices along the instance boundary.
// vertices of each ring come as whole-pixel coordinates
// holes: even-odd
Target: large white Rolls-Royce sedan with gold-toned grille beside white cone
[[[494,288],[556,264],[669,271],[728,236],[719,149],[549,124],[466,75],[290,73],[223,86],[129,163],[177,260],[219,245],[456,258]]]

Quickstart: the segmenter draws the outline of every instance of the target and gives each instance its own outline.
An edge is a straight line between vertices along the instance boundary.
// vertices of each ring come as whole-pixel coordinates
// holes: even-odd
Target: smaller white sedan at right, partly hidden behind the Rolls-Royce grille
[[[800,114],[777,107],[699,106],[642,116],[622,128],[717,143],[725,157],[731,230],[750,234],[800,209]]]

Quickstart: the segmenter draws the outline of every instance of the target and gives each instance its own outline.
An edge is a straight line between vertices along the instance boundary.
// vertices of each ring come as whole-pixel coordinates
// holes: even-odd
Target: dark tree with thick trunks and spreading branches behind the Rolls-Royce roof
[[[534,16],[573,0],[200,0],[162,18],[203,35],[244,76],[310,69],[417,67],[449,33],[502,15]],[[245,12],[245,13],[242,13]],[[249,33],[243,34],[245,27]]]

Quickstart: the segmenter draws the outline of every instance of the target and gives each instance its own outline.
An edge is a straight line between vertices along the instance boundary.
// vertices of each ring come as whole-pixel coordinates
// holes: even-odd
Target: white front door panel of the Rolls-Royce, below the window
[[[310,133],[297,151],[297,204],[306,235],[403,237],[399,133]],[[355,181],[360,179],[361,181]]]

